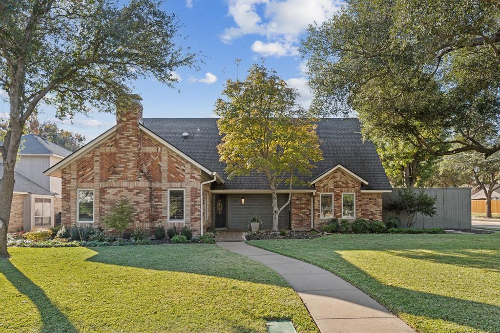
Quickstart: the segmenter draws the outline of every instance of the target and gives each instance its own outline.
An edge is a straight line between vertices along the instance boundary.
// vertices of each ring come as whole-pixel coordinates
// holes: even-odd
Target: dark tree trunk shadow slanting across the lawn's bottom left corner
[[[0,272],[20,293],[29,297],[36,305],[42,321],[41,332],[77,331],[45,292],[17,269],[9,259],[0,260]]]

